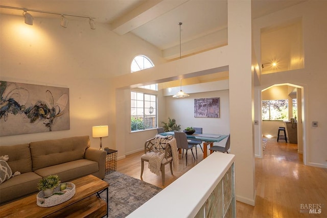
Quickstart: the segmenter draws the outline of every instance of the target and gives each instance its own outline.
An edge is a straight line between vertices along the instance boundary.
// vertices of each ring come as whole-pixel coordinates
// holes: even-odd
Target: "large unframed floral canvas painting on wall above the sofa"
[[[69,128],[68,88],[0,81],[0,136]]]

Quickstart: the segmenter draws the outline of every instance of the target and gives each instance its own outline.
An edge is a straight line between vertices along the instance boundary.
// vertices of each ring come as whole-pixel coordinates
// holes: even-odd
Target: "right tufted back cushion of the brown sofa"
[[[31,142],[33,171],[83,159],[85,150],[88,147],[90,147],[88,135]]]

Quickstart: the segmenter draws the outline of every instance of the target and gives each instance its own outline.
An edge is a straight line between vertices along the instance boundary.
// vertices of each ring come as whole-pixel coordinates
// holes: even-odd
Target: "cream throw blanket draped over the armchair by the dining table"
[[[177,171],[178,164],[179,164],[179,159],[178,159],[178,152],[177,152],[177,144],[176,144],[176,139],[173,138],[169,142],[171,151],[172,151],[172,156],[173,156],[173,169],[174,171]],[[160,175],[160,170],[161,170],[161,162],[165,158],[165,153],[166,151],[160,151],[160,152],[153,152],[153,154],[149,158],[149,164],[148,167],[152,173],[155,175]]]

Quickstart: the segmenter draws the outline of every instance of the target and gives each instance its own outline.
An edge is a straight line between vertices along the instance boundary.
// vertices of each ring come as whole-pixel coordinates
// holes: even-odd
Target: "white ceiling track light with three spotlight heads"
[[[34,9],[27,9],[27,8],[16,8],[16,7],[10,7],[10,6],[3,6],[0,5],[0,8],[7,8],[7,9],[14,9],[14,10],[22,10],[24,11],[22,14],[25,17],[25,23],[28,25],[33,25],[33,17],[30,13],[28,13],[27,11],[32,11],[32,12],[37,12],[37,13],[45,13],[45,14],[57,14],[61,16],[61,22],[60,25],[63,28],[67,28],[68,26],[68,20],[66,19],[65,16],[71,16],[71,17],[81,17],[81,18],[87,18],[88,22],[90,24],[90,28],[92,30],[96,29],[96,22],[94,19],[94,17],[86,17],[86,16],[79,16],[79,15],[74,15],[74,14],[61,14],[61,13],[56,13],[56,12],[50,12],[50,11],[39,11],[39,10],[34,10]]]

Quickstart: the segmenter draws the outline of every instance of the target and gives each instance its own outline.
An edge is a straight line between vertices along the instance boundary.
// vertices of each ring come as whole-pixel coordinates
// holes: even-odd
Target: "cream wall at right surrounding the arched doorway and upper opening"
[[[265,74],[261,77],[261,90],[273,84],[290,83],[303,87],[302,119],[303,161],[305,164],[327,168],[327,101],[324,89],[327,74],[323,64],[327,60],[327,8],[326,1],[307,1],[291,8],[278,11],[253,20],[253,33],[260,29],[278,25],[287,20],[302,18],[305,68]],[[260,50],[260,40],[255,43],[256,53]],[[318,121],[318,127],[312,122]]]

